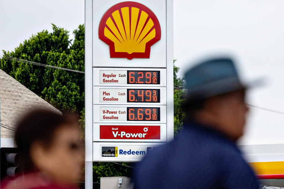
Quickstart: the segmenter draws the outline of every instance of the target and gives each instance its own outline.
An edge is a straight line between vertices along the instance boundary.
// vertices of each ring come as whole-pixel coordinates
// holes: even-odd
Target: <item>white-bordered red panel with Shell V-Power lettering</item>
[[[94,123],[93,141],[166,142],[165,123]],[[98,132],[99,131],[99,132]]]

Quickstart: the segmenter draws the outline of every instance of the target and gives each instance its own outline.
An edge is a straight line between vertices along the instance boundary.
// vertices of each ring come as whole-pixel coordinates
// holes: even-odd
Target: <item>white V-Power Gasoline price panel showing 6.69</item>
[[[164,105],[94,105],[94,123],[167,123]]]

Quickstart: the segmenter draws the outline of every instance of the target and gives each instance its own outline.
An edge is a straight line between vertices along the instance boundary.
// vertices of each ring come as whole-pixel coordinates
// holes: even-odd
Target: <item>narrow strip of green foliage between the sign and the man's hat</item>
[[[174,88],[184,87],[184,78],[178,77],[179,68],[175,66],[174,60]],[[175,135],[183,128],[185,113],[182,110],[182,104],[185,102],[185,89],[174,89],[174,133]]]

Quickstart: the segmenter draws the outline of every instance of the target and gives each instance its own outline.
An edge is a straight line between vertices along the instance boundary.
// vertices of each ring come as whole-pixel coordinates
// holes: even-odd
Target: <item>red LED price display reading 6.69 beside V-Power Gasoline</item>
[[[128,107],[127,108],[128,121],[159,121],[160,108],[159,107]]]

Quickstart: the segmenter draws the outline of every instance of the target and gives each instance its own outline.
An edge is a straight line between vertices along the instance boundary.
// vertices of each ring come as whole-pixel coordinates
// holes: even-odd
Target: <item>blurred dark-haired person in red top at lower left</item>
[[[80,179],[84,157],[74,115],[34,110],[18,123],[15,141],[23,175],[2,183],[2,189],[72,188]]]

